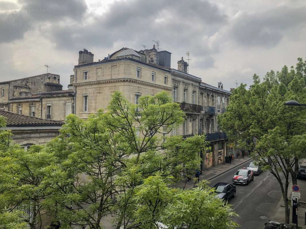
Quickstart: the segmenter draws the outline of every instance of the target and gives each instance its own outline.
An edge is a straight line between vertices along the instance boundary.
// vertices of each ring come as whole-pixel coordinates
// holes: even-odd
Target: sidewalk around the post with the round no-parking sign
[[[306,162],[306,159],[304,159],[303,162]],[[302,227],[303,229],[306,229],[305,224],[305,213],[306,213],[306,180],[299,179],[297,180],[297,184],[300,186],[300,193],[301,193],[301,199],[300,199],[300,206],[298,207],[297,211],[297,221],[298,226]],[[291,192],[292,192],[292,182],[290,181],[289,187],[288,187],[288,199],[291,200]],[[290,214],[289,214],[289,222],[292,224],[292,206],[289,205]],[[270,220],[274,220],[277,222],[285,222],[285,207],[284,207],[284,200],[283,198],[280,199],[278,202],[278,205],[275,207],[274,212],[271,214]],[[293,224],[295,225],[295,224]]]

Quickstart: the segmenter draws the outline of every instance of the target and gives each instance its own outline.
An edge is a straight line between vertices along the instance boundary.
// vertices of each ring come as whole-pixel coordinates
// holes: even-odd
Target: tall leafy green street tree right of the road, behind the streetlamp
[[[288,100],[306,102],[305,78],[300,70],[304,62],[298,61],[297,71],[284,66],[281,71],[268,72],[261,83],[254,75],[249,90],[241,84],[230,96],[227,111],[218,117],[230,141],[236,142],[238,148],[252,151],[254,159],[276,177],[285,203],[289,176],[297,184],[298,161],[305,158],[306,110],[284,106]]]

